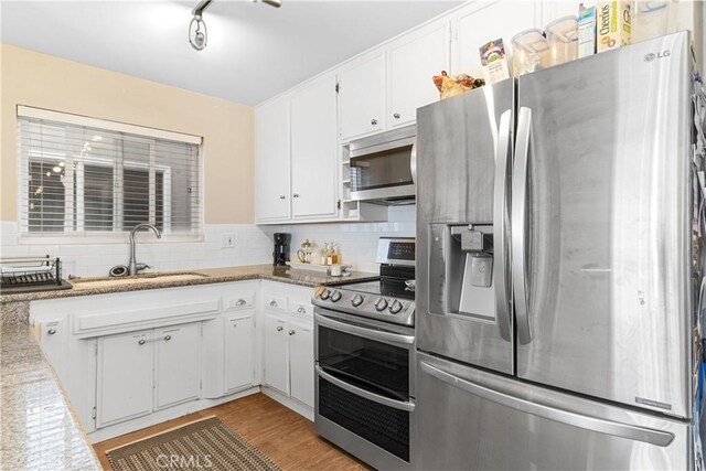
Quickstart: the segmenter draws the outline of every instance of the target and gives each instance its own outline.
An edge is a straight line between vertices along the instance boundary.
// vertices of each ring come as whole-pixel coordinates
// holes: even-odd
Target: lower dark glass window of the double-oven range
[[[319,414],[409,462],[409,413],[374,403],[319,378]]]

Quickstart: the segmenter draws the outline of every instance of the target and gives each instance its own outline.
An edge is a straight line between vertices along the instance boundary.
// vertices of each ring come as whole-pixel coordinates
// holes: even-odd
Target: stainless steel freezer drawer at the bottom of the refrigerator
[[[424,470],[693,469],[692,426],[417,356]]]

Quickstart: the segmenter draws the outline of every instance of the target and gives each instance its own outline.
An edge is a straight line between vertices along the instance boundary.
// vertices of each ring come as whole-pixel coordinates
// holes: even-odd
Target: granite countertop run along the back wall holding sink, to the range
[[[375,279],[376,274],[367,274],[362,271],[353,271],[351,275],[343,277],[331,277],[314,271],[302,271],[291,269],[290,267],[274,267],[271,265],[250,265],[244,267],[226,267],[226,268],[204,268],[196,270],[182,271],[160,271],[159,276],[171,277],[171,279],[159,280],[153,278],[150,282],[145,282],[145,278],[158,274],[143,274],[135,277],[124,278],[76,278],[69,280],[74,288],[55,291],[39,291],[17,295],[1,295],[0,302],[18,302],[18,301],[35,301],[40,299],[71,298],[75,296],[107,295],[110,292],[138,291],[145,289],[159,288],[176,288],[182,286],[207,285],[214,282],[244,281],[266,279],[272,281],[287,282],[292,285],[315,287],[318,285],[340,285],[351,280],[363,281]],[[189,279],[178,279],[179,276],[186,278],[189,275],[194,277]],[[129,282],[133,279],[135,282]],[[93,281],[105,281],[93,283]],[[116,281],[110,285],[109,281]]]

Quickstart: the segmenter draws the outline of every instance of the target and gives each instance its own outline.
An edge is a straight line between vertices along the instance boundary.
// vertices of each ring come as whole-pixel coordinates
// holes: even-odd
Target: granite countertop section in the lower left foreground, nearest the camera
[[[29,327],[29,303],[0,312],[0,468],[100,470]]]

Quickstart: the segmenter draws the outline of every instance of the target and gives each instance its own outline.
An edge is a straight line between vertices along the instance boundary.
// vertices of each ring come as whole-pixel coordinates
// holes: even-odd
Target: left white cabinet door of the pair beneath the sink
[[[96,428],[152,411],[152,331],[98,339]]]

